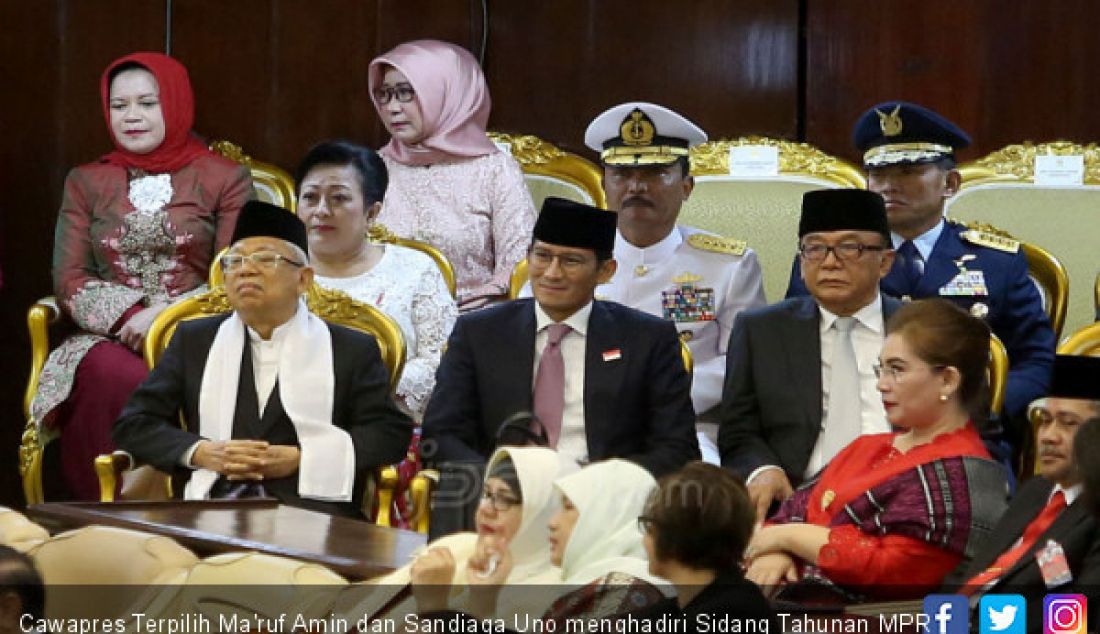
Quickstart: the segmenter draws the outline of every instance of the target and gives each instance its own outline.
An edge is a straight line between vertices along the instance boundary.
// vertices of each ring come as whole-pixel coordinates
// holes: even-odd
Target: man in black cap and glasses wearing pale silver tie
[[[743,311],[726,356],[722,464],[760,521],[859,435],[890,430],[873,371],[900,306],[879,294],[893,264],[882,197],[806,193],[799,240],[811,295]]]

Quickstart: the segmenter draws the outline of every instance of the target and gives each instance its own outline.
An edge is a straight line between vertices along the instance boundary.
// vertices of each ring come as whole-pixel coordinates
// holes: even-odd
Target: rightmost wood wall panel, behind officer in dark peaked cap
[[[1100,141],[1096,2],[805,4],[805,140],[826,152],[857,160],[853,122],[890,99],[958,123],[974,139],[964,161],[1024,140]]]

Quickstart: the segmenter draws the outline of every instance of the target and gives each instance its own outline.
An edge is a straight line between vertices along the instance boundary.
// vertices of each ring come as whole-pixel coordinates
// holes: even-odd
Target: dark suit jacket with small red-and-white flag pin
[[[424,416],[437,462],[484,462],[508,416],[531,409],[535,300],[459,317]],[[603,353],[619,350],[618,359]],[[697,460],[691,378],[670,321],[595,300],[585,341],[588,458],[626,458],[654,476]]]

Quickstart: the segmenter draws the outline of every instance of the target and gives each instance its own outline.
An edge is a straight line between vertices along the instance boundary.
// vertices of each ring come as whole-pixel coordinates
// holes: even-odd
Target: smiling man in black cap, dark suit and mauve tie
[[[534,411],[580,462],[626,458],[660,476],[698,459],[675,327],[593,298],[615,273],[615,222],[543,203],[528,252],[535,297],[459,318],[425,412],[426,458],[483,463],[502,422]]]

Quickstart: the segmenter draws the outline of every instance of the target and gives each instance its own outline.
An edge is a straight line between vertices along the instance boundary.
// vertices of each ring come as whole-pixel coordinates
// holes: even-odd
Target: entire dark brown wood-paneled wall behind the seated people
[[[712,136],[767,134],[855,158],[854,119],[919,101],[975,136],[963,157],[1024,139],[1100,140],[1091,113],[1100,6],[1090,0],[11,0],[0,3],[0,504],[14,472],[26,307],[51,293],[66,171],[110,149],[98,78],[136,50],[190,69],[197,129],[293,170],[316,141],[385,141],[372,57],[417,37],[481,52],[491,125],[583,147],[593,116],[642,99]],[[591,155],[591,154],[588,154]]]

